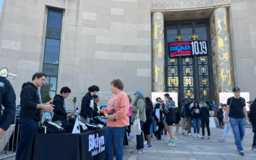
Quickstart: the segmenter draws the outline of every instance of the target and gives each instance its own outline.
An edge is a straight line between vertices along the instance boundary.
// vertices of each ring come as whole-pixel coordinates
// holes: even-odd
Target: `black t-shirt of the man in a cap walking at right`
[[[232,102],[230,105],[230,98],[227,100],[227,105],[230,106],[230,111],[229,111],[229,117],[231,118],[236,118],[236,119],[243,119],[244,118],[244,113],[243,113],[243,108],[246,106],[245,100],[242,97],[239,97],[239,99],[236,99],[232,97]]]

